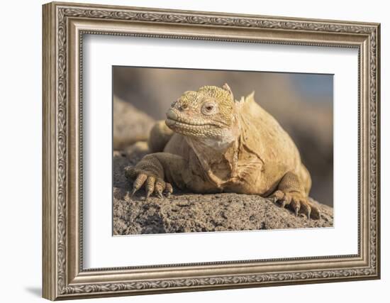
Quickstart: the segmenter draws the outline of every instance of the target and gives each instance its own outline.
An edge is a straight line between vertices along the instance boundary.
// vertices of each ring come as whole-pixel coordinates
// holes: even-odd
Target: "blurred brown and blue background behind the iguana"
[[[187,90],[228,83],[235,99],[255,91],[301,152],[311,197],[333,206],[333,75],[113,67],[113,147],[145,141],[155,120]]]

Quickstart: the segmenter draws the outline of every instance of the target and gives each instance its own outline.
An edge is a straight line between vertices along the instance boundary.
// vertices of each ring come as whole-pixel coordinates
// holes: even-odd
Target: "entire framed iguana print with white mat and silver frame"
[[[380,277],[378,23],[43,6],[43,297]]]

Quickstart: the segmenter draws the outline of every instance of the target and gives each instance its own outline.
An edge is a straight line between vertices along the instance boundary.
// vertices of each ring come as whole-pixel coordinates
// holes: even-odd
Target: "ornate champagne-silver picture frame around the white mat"
[[[356,48],[358,253],[308,258],[83,268],[83,35]],[[78,299],[380,277],[380,25],[199,11],[43,6],[43,297]]]

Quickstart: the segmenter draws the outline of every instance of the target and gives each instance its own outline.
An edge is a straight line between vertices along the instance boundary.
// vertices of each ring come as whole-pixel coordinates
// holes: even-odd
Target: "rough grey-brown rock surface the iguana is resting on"
[[[174,189],[169,199],[145,201],[143,190],[130,197],[131,185],[123,169],[135,165],[145,153],[146,143],[113,153],[114,235],[333,226],[333,208],[315,201],[321,209],[320,220],[294,216],[270,199],[248,194],[191,194]]]

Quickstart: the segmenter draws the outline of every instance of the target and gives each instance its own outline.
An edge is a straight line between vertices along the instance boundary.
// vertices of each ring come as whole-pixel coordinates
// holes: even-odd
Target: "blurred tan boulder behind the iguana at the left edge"
[[[113,148],[125,148],[127,145],[147,139],[155,123],[143,111],[138,111],[130,103],[113,97]]]

